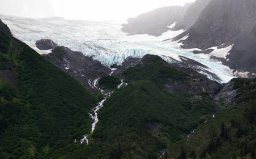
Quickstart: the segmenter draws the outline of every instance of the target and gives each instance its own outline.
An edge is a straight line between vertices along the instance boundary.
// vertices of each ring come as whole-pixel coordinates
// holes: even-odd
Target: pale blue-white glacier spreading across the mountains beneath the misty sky
[[[193,54],[193,50],[198,50],[196,48],[181,49],[182,44],[171,39],[183,33],[184,30],[170,30],[159,37],[128,36],[127,33],[121,31],[120,23],[112,21],[93,22],[62,18],[30,19],[6,15],[0,15],[0,18],[8,25],[14,37],[26,42],[40,54],[50,53],[51,50],[36,49],[35,42],[41,39],[51,39],[57,45],[80,51],[107,67],[114,64],[121,65],[128,57],[141,58],[146,54],[154,54],[169,63],[181,62],[181,56],[200,62],[207,68],[204,68],[205,71],[199,72],[220,83],[227,83],[239,75],[233,74],[233,70],[222,65],[221,61],[211,59],[210,56],[214,54]],[[184,38],[187,37],[188,35]],[[223,51],[229,51],[232,46]],[[222,50],[218,50],[215,54],[220,56],[220,51]],[[223,54],[226,55],[228,52]],[[218,78],[212,77],[207,72],[216,74]]]

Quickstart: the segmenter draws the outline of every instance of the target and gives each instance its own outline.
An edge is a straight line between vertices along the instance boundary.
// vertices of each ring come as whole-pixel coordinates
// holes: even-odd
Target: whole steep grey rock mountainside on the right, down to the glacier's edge
[[[234,44],[224,63],[235,70],[255,72],[255,8],[256,1],[251,0],[211,1],[189,29],[183,48],[225,48]]]

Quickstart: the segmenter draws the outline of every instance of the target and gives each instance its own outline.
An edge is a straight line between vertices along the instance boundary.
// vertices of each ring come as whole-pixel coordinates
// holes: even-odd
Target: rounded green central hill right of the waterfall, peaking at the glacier
[[[114,92],[98,112],[89,158],[158,158],[217,109],[203,85],[193,93],[181,85],[208,82],[218,87],[216,82],[178,71],[158,56],[144,56],[123,76],[128,85]],[[177,85],[168,89],[172,84]]]

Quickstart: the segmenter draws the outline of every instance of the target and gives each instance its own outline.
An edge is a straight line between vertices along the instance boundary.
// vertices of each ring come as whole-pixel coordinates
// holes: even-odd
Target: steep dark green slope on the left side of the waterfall
[[[0,156],[61,158],[84,148],[96,105],[68,74],[16,40],[0,21]]]

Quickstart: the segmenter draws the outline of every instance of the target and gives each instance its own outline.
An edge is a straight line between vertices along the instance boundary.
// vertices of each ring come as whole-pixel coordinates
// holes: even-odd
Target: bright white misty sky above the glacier
[[[195,0],[1,0],[0,14],[29,18],[119,20],[163,6],[183,6]]]

